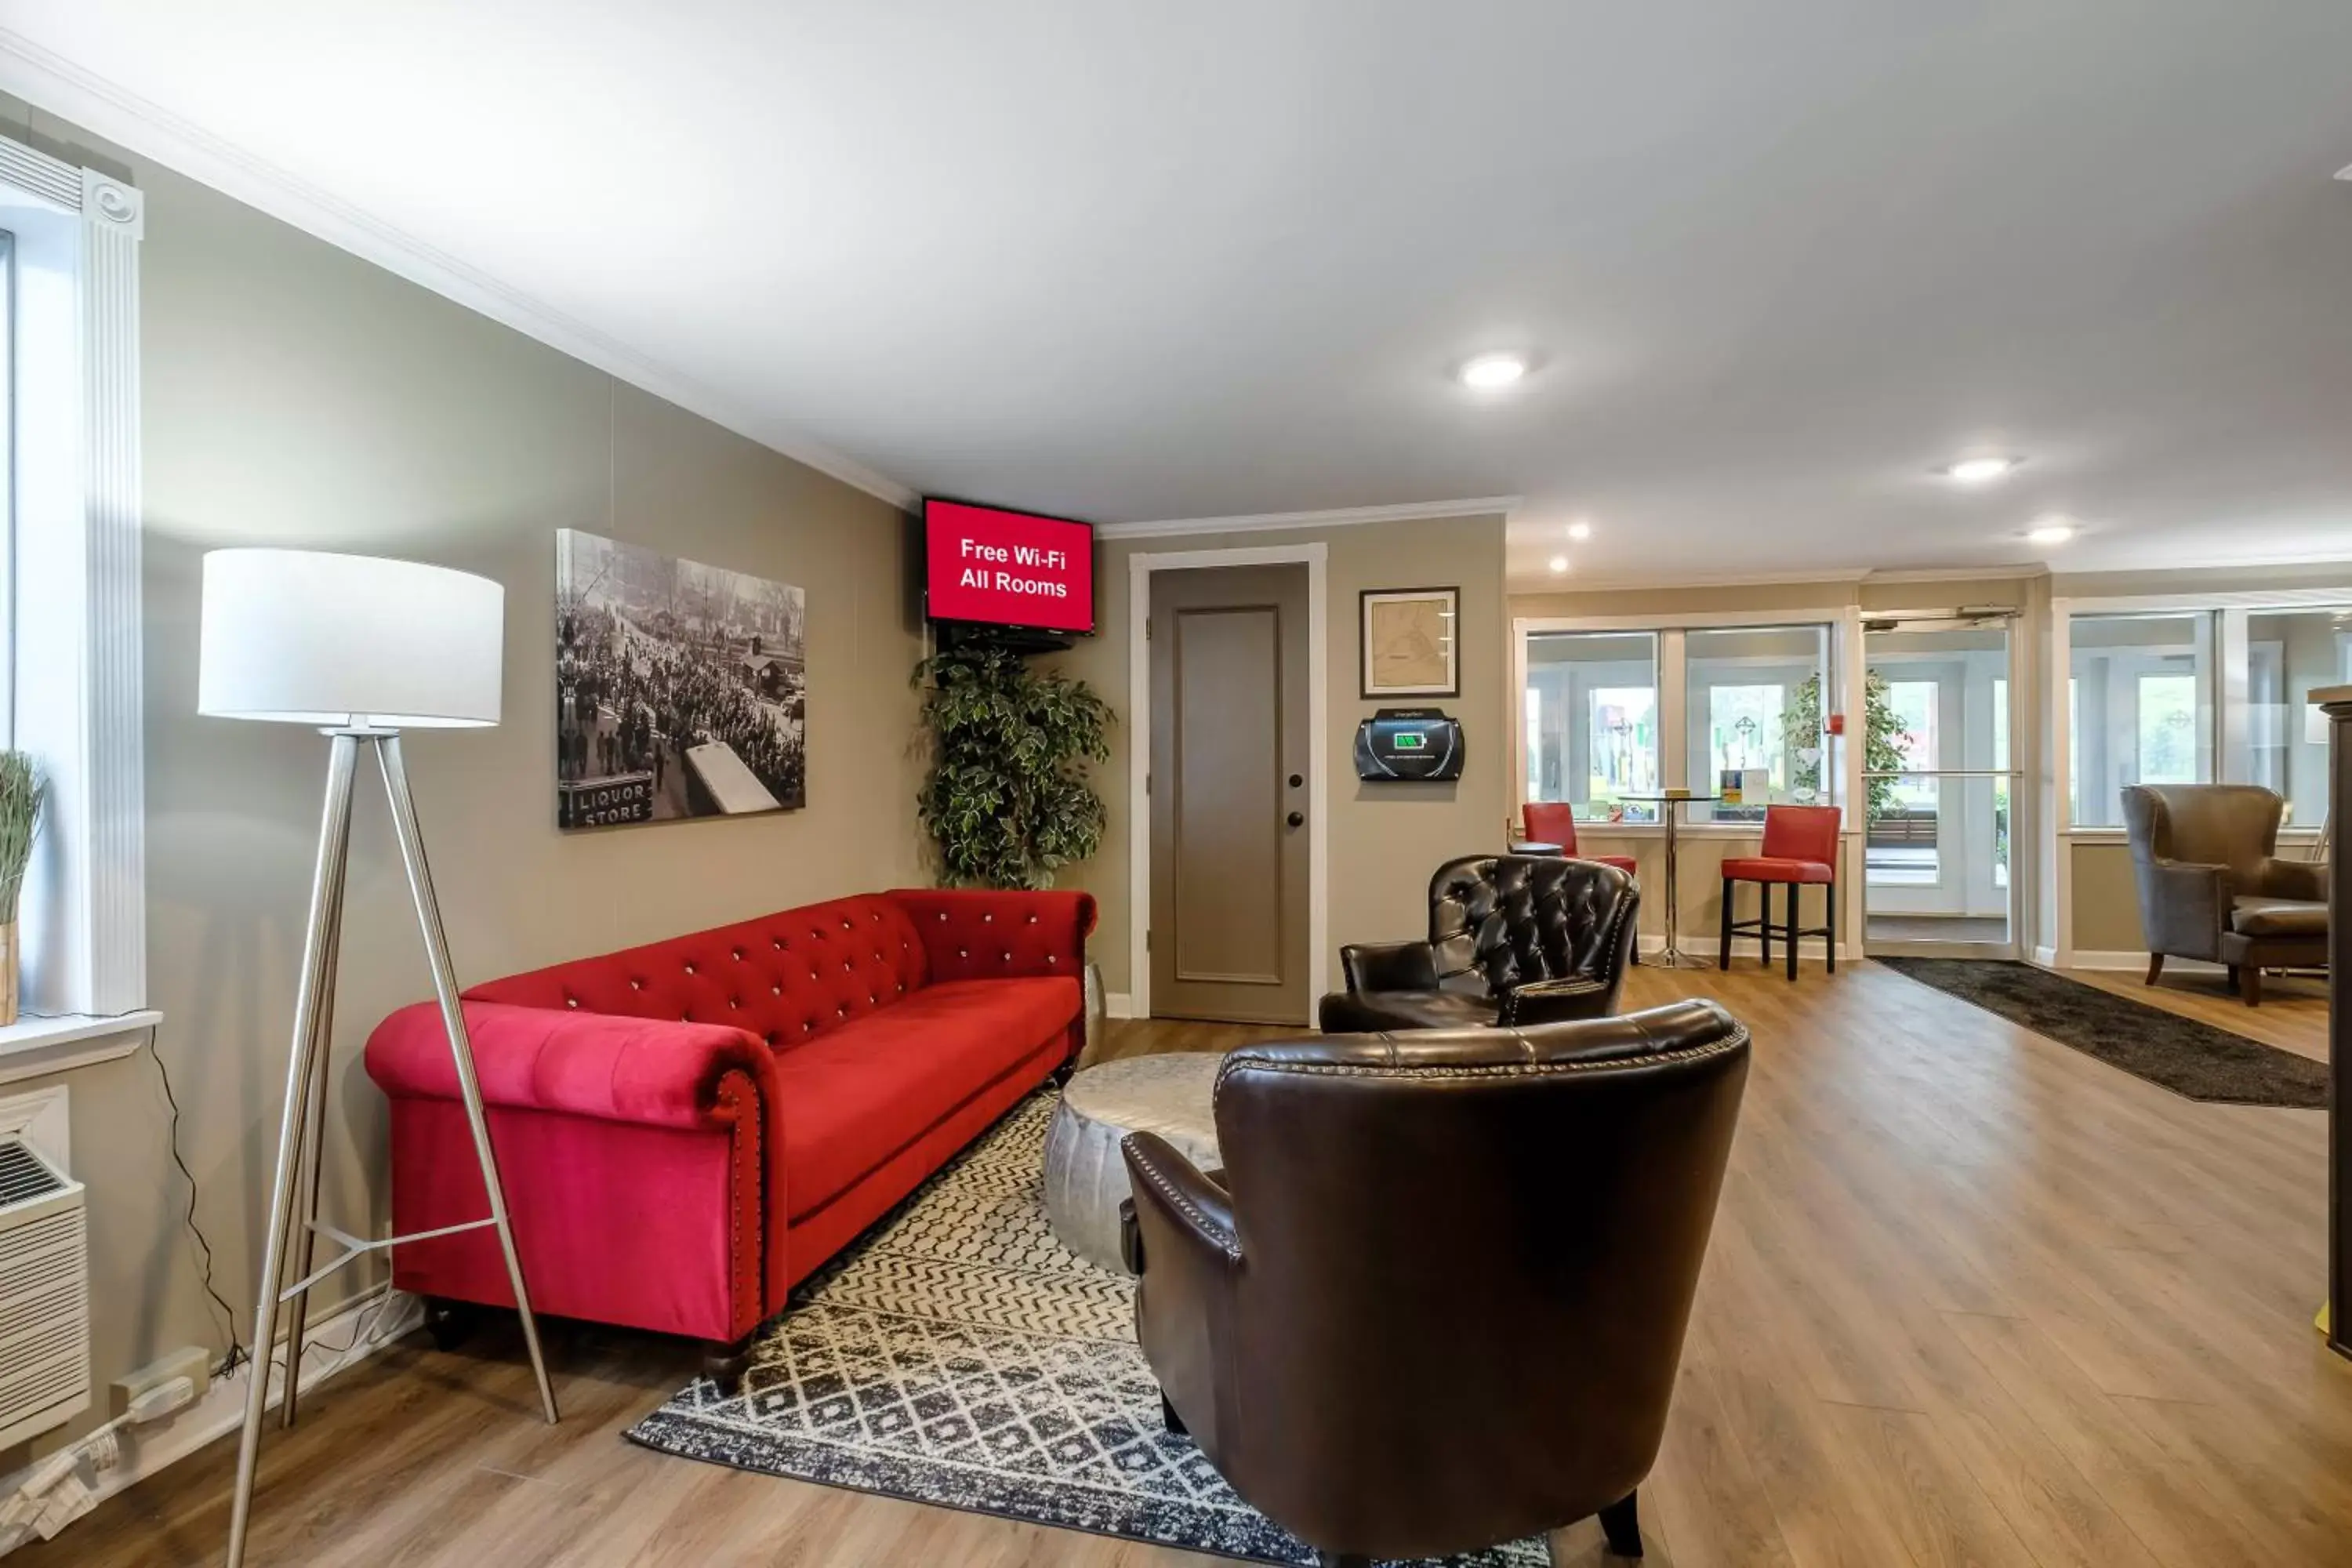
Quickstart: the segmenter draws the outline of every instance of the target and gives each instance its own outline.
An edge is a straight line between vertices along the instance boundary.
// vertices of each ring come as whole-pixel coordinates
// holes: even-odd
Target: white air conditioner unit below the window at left
[[[0,1135],[0,1448],[89,1408],[82,1182]]]

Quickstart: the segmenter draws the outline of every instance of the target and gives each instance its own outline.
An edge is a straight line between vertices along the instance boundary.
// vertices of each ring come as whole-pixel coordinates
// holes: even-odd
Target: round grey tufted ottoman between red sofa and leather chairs
[[[1160,1133],[1202,1171],[1221,1164],[1211,1095],[1223,1060],[1216,1051],[1131,1056],[1070,1079],[1044,1135],[1044,1215],[1063,1246],[1096,1267],[1127,1272],[1120,1258],[1127,1133]]]

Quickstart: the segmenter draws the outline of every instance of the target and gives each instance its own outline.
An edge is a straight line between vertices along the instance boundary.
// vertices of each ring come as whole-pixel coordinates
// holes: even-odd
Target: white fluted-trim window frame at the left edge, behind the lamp
[[[16,287],[5,675],[12,743],[49,783],[21,910],[28,1018],[0,1030],[9,1058],[155,1023],[139,616],[143,223],[136,188],[0,139]]]

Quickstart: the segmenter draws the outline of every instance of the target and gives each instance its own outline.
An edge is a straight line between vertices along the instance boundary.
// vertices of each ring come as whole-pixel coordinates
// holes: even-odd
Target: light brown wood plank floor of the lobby
[[[1642,1488],[1651,1563],[2352,1563],[2352,1363],[2310,1324],[2317,1112],[2192,1105],[1870,964],[1630,980],[1689,992],[1748,1018],[1755,1072]],[[1105,1053],[1258,1034],[1115,1025]],[[553,1429],[510,1335],[329,1382],[263,1460],[252,1561],[1207,1561],[644,1453],[619,1434],[691,1349],[555,1326],[550,1354]],[[216,1443],[19,1561],[219,1561],[230,1462]],[[1569,1561],[1604,1561],[1590,1523]]]

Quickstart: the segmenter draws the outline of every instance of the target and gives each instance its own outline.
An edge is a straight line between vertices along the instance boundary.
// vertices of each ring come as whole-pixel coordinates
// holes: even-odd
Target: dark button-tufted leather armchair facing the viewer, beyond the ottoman
[[[1430,877],[1430,940],[1338,950],[1345,994],[1324,1034],[1606,1018],[1632,957],[1642,896],[1597,860],[1470,856]]]

